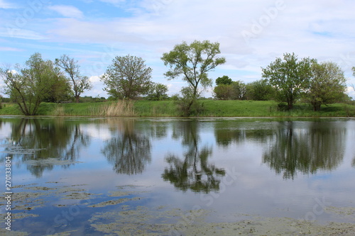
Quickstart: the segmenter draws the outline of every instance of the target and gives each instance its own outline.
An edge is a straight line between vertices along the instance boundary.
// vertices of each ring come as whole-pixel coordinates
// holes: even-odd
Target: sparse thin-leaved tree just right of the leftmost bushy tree
[[[55,64],[67,74],[68,80],[72,84],[72,94],[75,97],[75,101],[79,103],[80,95],[85,90],[92,89],[89,78],[80,74],[80,65],[68,55],[62,55],[60,58],[55,59]]]

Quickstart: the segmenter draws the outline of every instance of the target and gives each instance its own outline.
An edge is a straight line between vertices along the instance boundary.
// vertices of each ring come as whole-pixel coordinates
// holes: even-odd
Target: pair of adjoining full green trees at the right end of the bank
[[[285,53],[283,59],[277,58],[262,71],[276,89],[276,99],[286,102],[289,109],[302,96],[315,111],[322,104],[344,99],[346,78],[334,62],[319,63],[309,57],[298,60],[294,53]]]

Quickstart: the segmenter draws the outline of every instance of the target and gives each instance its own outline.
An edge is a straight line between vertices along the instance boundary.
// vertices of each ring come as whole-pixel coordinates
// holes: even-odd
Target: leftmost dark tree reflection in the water
[[[61,164],[68,168],[78,158],[79,150],[89,145],[89,136],[84,135],[80,124],[65,122],[63,118],[15,118],[11,123],[11,135],[6,145],[7,156],[18,159],[19,164],[55,158],[69,161]],[[31,174],[39,178],[45,170],[52,170],[54,164],[27,164]]]

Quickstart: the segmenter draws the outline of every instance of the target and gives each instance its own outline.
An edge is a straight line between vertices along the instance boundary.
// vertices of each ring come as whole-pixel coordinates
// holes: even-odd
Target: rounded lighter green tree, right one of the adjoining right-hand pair
[[[334,62],[312,63],[312,79],[306,96],[315,111],[344,99],[346,78],[342,69]]]

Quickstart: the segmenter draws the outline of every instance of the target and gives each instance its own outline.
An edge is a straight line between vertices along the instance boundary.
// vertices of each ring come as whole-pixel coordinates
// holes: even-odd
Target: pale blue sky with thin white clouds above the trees
[[[35,52],[50,60],[67,54],[94,85],[84,95],[107,96],[99,76],[115,56],[131,54],[146,60],[153,82],[175,94],[185,83],[163,76],[163,52],[184,40],[210,40],[226,57],[209,73],[212,79],[253,82],[261,67],[295,52],[337,62],[350,86],[354,9],[351,0],[0,0],[0,64],[23,64]],[[349,94],[355,98],[350,87]]]

